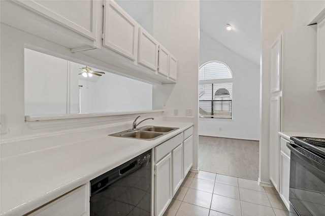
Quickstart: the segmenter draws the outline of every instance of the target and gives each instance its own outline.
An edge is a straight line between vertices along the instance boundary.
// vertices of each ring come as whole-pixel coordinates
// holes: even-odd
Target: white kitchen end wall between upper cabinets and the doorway
[[[153,97],[167,98],[164,115],[185,116],[191,109],[194,124],[194,164],[198,168],[199,1],[154,1],[153,36],[178,59],[177,83],[155,86]],[[160,93],[157,94],[157,92]],[[169,95],[170,96],[167,96]],[[163,100],[154,100],[161,106]]]

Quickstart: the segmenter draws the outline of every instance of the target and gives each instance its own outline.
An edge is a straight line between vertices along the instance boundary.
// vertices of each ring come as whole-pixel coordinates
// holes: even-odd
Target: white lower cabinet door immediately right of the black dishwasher
[[[163,215],[172,200],[172,154],[156,163],[154,215]]]

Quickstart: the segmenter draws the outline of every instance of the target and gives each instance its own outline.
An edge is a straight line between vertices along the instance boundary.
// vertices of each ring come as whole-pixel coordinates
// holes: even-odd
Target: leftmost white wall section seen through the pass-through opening
[[[68,61],[29,49],[24,56],[25,115],[66,114]]]

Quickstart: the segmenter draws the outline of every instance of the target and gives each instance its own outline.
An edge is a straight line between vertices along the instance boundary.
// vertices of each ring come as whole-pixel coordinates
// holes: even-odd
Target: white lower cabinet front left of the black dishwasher
[[[89,215],[89,183],[51,201],[44,207],[28,215]]]

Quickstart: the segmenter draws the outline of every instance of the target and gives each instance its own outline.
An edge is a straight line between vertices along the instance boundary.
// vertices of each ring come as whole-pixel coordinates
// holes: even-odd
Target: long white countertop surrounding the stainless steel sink
[[[178,127],[155,140],[100,135],[1,159],[1,214],[21,215],[96,176],[152,149],[192,126],[189,122],[150,122]],[[112,131],[111,133],[118,132]]]

